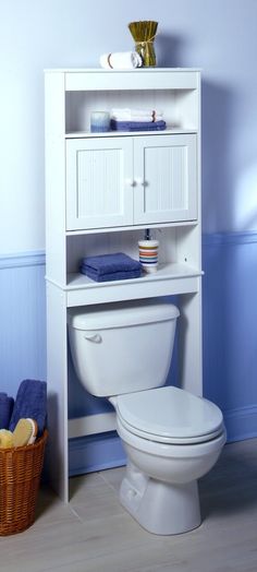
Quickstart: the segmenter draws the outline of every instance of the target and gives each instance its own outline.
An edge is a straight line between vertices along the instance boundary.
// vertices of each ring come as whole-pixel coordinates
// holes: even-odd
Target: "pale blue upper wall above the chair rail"
[[[203,228],[257,228],[256,0],[1,0],[0,254],[45,249],[44,68],[98,67],[159,22],[159,65],[203,68]]]

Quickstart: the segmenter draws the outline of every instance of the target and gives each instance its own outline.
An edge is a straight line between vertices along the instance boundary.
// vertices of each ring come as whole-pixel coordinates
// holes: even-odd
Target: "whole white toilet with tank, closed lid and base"
[[[179,310],[134,301],[69,310],[76,373],[106,396],[127,454],[120,499],[147,531],[171,535],[200,524],[197,479],[225,443],[222,413],[184,390],[161,386],[170,368]]]

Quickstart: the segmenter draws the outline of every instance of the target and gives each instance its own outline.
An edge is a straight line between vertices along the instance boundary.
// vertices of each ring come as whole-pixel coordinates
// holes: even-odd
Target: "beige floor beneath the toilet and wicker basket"
[[[203,524],[145,532],[119,504],[124,468],[71,479],[64,505],[40,491],[26,532],[0,538],[1,572],[257,572],[257,439],[227,445],[200,481]]]

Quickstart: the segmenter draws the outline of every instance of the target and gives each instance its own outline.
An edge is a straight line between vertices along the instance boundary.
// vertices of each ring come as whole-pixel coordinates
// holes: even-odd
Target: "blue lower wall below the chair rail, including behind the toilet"
[[[257,437],[257,233],[205,235],[204,394],[225,418],[229,441]],[[45,254],[0,259],[1,391],[22,379],[46,379]],[[70,365],[70,418],[106,412]],[[105,454],[103,454],[105,451]],[[71,474],[122,464],[111,433],[70,443]]]

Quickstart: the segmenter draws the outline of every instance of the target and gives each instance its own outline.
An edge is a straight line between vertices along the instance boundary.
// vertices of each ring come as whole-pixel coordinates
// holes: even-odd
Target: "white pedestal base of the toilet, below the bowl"
[[[173,485],[143,475],[130,463],[120,489],[121,504],[149,533],[181,534],[200,525],[197,481]]]

